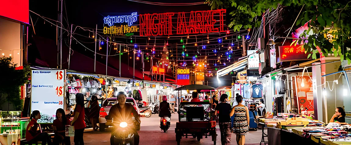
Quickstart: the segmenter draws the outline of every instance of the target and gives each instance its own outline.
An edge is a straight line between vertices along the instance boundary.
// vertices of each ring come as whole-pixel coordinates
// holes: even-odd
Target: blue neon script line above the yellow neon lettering
[[[122,15],[122,16],[107,16],[104,18],[104,23],[108,26],[113,26],[114,23],[127,23],[128,26],[132,26],[133,22],[137,21],[137,12],[132,13],[131,15]]]

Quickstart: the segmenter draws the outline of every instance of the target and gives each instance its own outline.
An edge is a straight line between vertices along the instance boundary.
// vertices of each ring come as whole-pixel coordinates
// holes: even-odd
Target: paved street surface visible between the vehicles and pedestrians
[[[140,145],[177,145],[176,133],[174,128],[176,128],[176,122],[178,121],[178,114],[172,114],[171,117],[171,127],[164,133],[160,130],[160,118],[158,114],[152,114],[150,118],[141,117],[140,125]],[[220,145],[220,131],[217,125],[217,145]],[[86,145],[110,145],[111,137],[111,128],[106,129],[106,131],[92,131],[91,128],[88,128],[84,132],[84,143]],[[259,145],[261,141],[262,130],[250,131],[246,135],[245,145]],[[236,135],[232,134],[231,145],[236,145]],[[267,138],[266,138],[267,139]],[[71,137],[71,144],[73,145],[73,137]],[[211,137],[201,139],[196,141],[196,138],[183,137],[181,139],[181,145],[212,145],[213,141]]]

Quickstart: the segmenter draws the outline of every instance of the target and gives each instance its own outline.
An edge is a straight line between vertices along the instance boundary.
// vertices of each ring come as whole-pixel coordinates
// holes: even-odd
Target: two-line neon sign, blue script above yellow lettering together
[[[133,35],[133,32],[138,32],[138,26],[132,26],[137,19],[137,12],[132,13],[131,15],[123,16],[107,16],[104,18],[104,24],[107,24],[110,27],[104,27],[104,34],[111,35]],[[127,25],[113,26],[114,24],[126,23]]]

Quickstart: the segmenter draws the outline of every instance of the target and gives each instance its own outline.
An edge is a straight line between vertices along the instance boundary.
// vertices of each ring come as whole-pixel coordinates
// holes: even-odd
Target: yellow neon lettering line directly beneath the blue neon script
[[[113,34],[113,35],[123,35],[125,33],[133,33],[133,32],[138,32],[139,28],[138,26],[127,26],[127,25],[121,25],[119,27],[117,26],[111,26],[111,27],[104,27],[104,34]]]

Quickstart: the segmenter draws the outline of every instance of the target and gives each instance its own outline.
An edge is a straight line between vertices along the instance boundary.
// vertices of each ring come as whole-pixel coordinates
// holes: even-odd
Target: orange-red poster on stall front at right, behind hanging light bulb
[[[312,76],[296,76],[295,82],[299,113],[311,114],[314,118]]]

